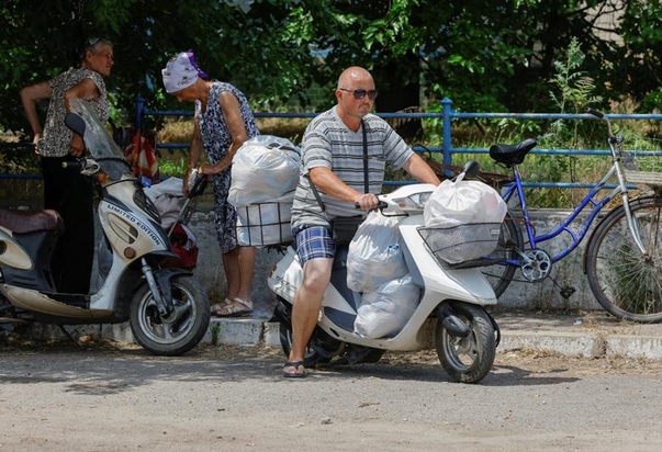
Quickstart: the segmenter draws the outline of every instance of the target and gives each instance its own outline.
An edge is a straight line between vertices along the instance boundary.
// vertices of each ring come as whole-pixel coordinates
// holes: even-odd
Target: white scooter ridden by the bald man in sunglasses
[[[464,173],[471,176],[478,170],[478,162],[471,162]],[[496,296],[480,270],[471,268],[484,262],[450,269],[435,256],[429,246],[429,234],[435,233],[426,230],[423,216],[425,202],[434,190],[431,184],[412,184],[379,196],[382,215],[405,216],[397,226],[401,247],[413,281],[420,287],[414,314],[393,337],[374,339],[355,331],[361,294],[347,287],[348,247],[338,246],[330,284],[308,342],[307,368],[328,363],[334,358],[341,363],[367,363],[379,361],[386,350],[436,348],[441,365],[455,381],[476,383],[487,375],[500,330],[484,306],[495,305]],[[498,225],[496,230],[498,236]],[[292,303],[302,279],[296,251],[290,246],[268,278],[269,289],[277,295],[274,317],[280,321],[280,341],[285,355],[292,344]]]

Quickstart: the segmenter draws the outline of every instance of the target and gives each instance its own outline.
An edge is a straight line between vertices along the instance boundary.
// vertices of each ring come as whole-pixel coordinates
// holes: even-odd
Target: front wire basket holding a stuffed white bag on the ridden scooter
[[[439,184],[425,204],[425,227],[418,233],[445,267],[490,265],[498,245],[507,205],[498,192],[479,181]]]

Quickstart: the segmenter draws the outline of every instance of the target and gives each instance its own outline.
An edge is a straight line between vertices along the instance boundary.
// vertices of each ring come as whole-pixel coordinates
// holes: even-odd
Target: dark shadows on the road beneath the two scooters
[[[405,358],[403,358],[405,357]],[[254,347],[200,346],[183,357],[155,357],[141,348],[72,343],[0,348],[0,384],[64,383],[75,394],[109,395],[155,381],[273,382],[281,378],[280,350]],[[564,384],[577,381],[554,375],[565,369],[535,373],[514,365],[494,365],[480,382],[485,386]],[[306,381],[380,378],[455,384],[438,361],[411,355],[385,357],[375,364],[328,365],[310,370]],[[282,380],[285,382],[285,380]]]

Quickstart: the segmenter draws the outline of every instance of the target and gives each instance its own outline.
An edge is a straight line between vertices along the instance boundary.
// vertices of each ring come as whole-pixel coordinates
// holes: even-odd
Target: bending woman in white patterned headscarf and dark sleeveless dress
[[[237,149],[249,138],[259,135],[248,100],[234,86],[206,80],[195,61],[192,50],[172,57],[161,71],[164,86],[180,102],[195,104],[193,139],[189,155],[187,181],[202,150],[206,162],[199,168],[212,177],[214,187],[214,213],[221,258],[227,279],[227,295],[222,303],[212,306],[217,316],[237,316],[253,310],[250,284],[255,265],[254,247],[240,247],[236,237],[236,211],[227,202],[231,183],[231,165]]]

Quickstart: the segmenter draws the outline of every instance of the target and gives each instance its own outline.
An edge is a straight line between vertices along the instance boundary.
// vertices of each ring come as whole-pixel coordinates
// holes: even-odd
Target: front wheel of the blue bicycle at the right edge
[[[662,200],[630,202],[643,256],[632,240],[622,206],[597,225],[585,255],[586,276],[593,295],[609,314],[638,323],[662,321]]]

